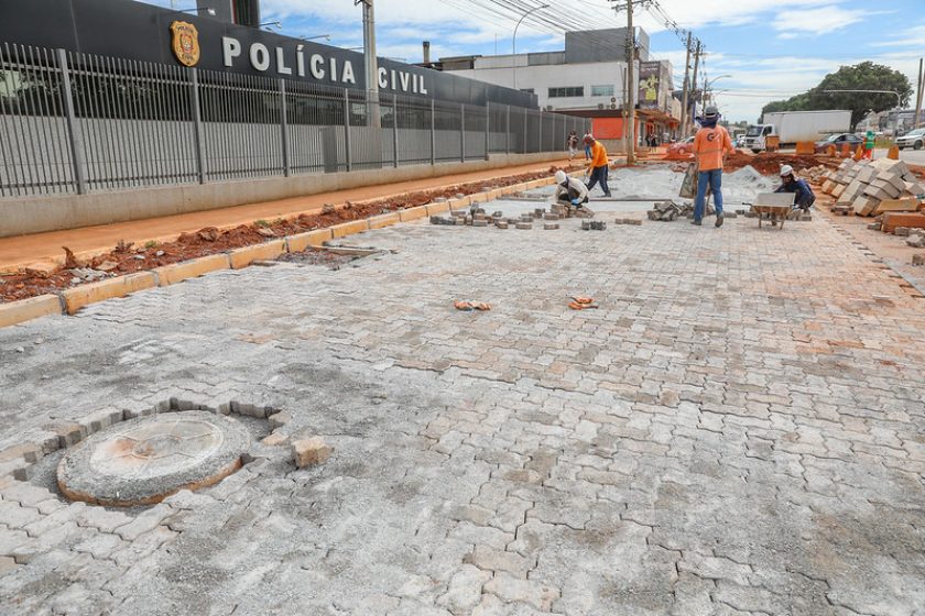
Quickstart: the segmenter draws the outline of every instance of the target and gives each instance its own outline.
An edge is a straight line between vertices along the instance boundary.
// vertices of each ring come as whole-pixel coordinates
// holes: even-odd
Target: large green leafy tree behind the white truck
[[[761,113],[848,109],[851,111],[853,129],[864,119],[868,111],[880,112],[896,106],[896,95],[892,94],[828,94],[824,90],[891,90],[899,92],[900,106],[907,105],[912,97],[912,85],[905,75],[882,64],[862,62],[853,66],[842,66],[837,72],[826,75],[818,86],[806,92],[787,100],[769,102]]]

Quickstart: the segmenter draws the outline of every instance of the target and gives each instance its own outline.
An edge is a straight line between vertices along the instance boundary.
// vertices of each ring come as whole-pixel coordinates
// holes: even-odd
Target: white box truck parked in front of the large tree
[[[827,134],[847,133],[851,130],[851,112],[831,111],[775,111],[765,113],[761,124],[746,131],[746,147],[755,154],[766,148],[769,136],[776,135],[780,145],[797,141],[817,142]]]

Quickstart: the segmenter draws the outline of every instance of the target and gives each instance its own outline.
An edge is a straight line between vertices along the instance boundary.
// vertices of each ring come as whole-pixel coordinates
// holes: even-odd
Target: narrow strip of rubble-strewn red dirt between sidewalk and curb
[[[522,182],[546,178],[552,176],[559,167],[552,166],[547,172],[527,173],[493,178],[490,182],[474,182],[446,186],[440,189],[407,193],[389,199],[377,199],[358,204],[348,202],[341,208],[330,206],[318,215],[302,215],[295,218],[276,219],[273,221],[258,220],[251,224],[241,224],[235,229],[221,231],[215,227],[206,227],[195,233],[183,233],[174,242],[152,243],[144,246],[133,246],[120,242],[113,250],[106,254],[97,255],[85,262],[77,262],[73,254],[68,254],[65,266],[53,272],[40,272],[23,270],[15,274],[0,274],[0,304],[17,301],[29,297],[35,297],[48,293],[88,284],[86,282],[72,284],[77,277],[69,270],[87,267],[106,273],[105,277],[115,277],[122,274],[144,272],[179,263],[198,256],[227,252],[231,249],[259,244],[272,238],[293,235],[315,229],[323,229],[349,222],[362,220],[380,213],[389,213],[396,210],[432,204],[436,199],[451,199],[457,195],[472,195],[481,193],[486,188],[511,186]],[[580,168],[573,166],[566,170]],[[65,253],[69,253],[62,246]]]

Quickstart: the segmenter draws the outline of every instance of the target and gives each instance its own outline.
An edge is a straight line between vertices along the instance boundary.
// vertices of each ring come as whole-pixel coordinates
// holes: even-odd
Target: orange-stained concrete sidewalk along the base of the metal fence
[[[551,165],[567,165],[568,160],[519,165],[501,169],[446,175],[378,186],[366,186],[335,193],[295,197],[276,201],[235,206],[216,210],[183,213],[162,218],[84,227],[66,231],[50,231],[15,238],[0,238],[0,272],[15,271],[24,266],[41,267],[64,262],[62,246],[86,256],[111,250],[120,240],[142,244],[148,241],[167,242],[181,233],[197,231],[204,227],[233,228],[254,220],[274,220],[300,213],[317,213],[326,204],[345,204],[389,196],[432,190],[454,184],[491,180],[493,178],[548,169]]]

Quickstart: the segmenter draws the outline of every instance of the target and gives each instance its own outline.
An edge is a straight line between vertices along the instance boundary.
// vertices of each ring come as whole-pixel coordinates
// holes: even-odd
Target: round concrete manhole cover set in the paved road
[[[150,505],[178,490],[197,490],[241,468],[250,446],[244,427],[203,410],[118,424],[70,449],[58,464],[58,487],[72,501]]]

